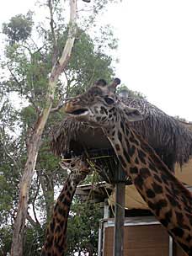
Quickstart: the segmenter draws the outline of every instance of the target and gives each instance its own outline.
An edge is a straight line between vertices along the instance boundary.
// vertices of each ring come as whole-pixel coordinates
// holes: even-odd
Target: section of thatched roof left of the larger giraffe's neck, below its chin
[[[84,150],[112,149],[100,128],[92,128],[72,117],[66,117],[54,127],[51,150],[58,156],[80,155]]]

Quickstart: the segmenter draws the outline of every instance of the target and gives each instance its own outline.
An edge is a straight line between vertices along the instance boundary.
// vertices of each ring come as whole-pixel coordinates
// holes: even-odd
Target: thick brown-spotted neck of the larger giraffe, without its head
[[[122,168],[175,242],[192,255],[192,195],[168,170],[146,141],[117,120],[104,130]]]

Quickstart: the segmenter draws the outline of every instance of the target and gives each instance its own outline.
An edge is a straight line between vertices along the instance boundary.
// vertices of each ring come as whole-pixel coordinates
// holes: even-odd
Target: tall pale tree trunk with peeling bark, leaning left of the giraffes
[[[23,256],[23,241],[24,241],[24,227],[27,216],[28,200],[29,200],[29,187],[33,178],[36,159],[38,156],[41,136],[45,128],[46,121],[50,115],[52,102],[55,95],[56,83],[63,69],[67,66],[69,61],[72,46],[76,36],[76,19],[77,19],[77,0],[70,0],[70,29],[67,36],[67,42],[62,51],[60,60],[56,61],[51,70],[49,84],[46,94],[45,108],[40,114],[35,123],[35,129],[29,139],[27,162],[24,166],[23,177],[20,181],[19,189],[19,205],[17,216],[13,228],[13,242],[11,248],[11,256]],[[56,56],[53,56],[56,60]]]

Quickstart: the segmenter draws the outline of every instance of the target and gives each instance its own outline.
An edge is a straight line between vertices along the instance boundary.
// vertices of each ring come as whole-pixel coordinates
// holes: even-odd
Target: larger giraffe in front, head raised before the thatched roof
[[[65,112],[77,120],[101,127],[122,168],[131,178],[152,213],[184,252],[192,255],[192,195],[175,178],[156,152],[131,128],[143,120],[138,109],[129,108],[115,94],[120,79],[103,79],[87,92],[69,99]]]

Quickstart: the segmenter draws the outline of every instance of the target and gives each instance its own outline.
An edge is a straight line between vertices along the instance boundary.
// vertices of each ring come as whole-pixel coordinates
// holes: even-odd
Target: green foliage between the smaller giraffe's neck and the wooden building
[[[99,204],[82,203],[78,200],[73,202],[67,227],[67,256],[74,255],[75,252],[97,255],[101,218]]]

